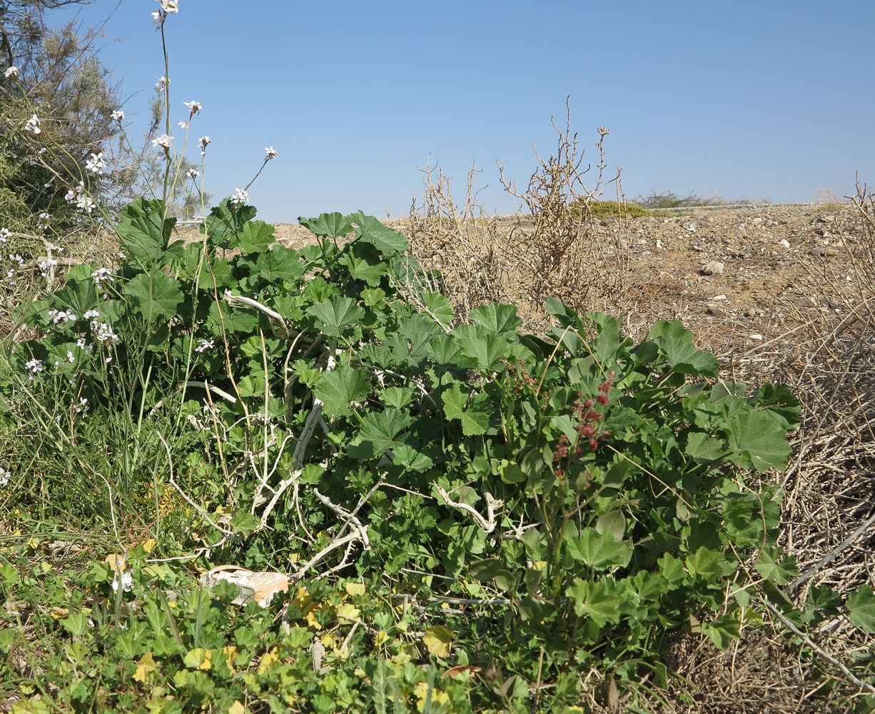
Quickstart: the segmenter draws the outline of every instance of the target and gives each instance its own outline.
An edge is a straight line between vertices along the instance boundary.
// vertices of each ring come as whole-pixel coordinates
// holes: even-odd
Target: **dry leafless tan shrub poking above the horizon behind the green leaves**
[[[617,305],[627,255],[618,241],[597,239],[590,209],[607,186],[616,184],[620,192],[620,170],[607,176],[608,130],[598,128],[598,164],[584,167],[584,151],[570,131],[570,112],[564,130],[556,123],[553,127],[556,153],[542,159],[535,150],[539,165],[524,192],[499,164],[502,186],[521,200],[521,210],[511,217],[483,211],[479,191],[473,190],[476,167],[468,173],[461,206],[453,200],[451,179],[444,172],[430,165],[421,170],[422,203],[414,201],[402,230],[411,254],[442,274],[459,318],[479,304],[512,302],[527,327],[536,329],[545,322],[543,302],[548,296],[577,311]],[[593,168],[594,185],[587,188],[584,176]]]

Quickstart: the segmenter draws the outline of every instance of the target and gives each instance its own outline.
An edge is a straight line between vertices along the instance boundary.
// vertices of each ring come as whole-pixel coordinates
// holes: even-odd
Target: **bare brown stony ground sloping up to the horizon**
[[[523,235],[531,228],[525,216],[500,221]],[[396,227],[403,232],[402,221]],[[625,254],[629,297],[641,314],[679,318],[719,350],[730,343],[748,349],[816,312],[846,310],[837,291],[824,293],[823,270],[853,281],[862,228],[847,204],[752,204],[607,218],[596,230]],[[313,241],[286,223],[276,225],[276,236],[294,248]]]

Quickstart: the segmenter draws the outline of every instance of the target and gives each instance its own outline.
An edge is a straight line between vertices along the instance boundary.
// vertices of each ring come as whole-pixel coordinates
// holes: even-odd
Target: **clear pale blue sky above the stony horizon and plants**
[[[165,73],[157,0],[53,11],[98,25],[142,141]],[[171,101],[203,105],[207,191],[245,186],[259,217],[407,214],[417,166],[438,162],[462,198],[473,159],[488,212],[512,213],[496,160],[519,184],[532,144],[556,149],[550,117],[587,159],[606,126],[627,197],[653,191],[810,201],[875,183],[873,0],[332,2],[179,0],[166,22]],[[176,133],[181,138],[179,130]],[[613,198],[613,194],[607,198]]]

